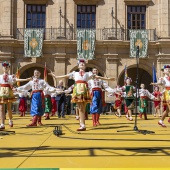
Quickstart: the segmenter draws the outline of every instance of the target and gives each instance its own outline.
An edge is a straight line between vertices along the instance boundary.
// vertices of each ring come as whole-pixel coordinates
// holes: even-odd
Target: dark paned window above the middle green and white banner
[[[77,5],[77,28],[96,28],[95,5]]]

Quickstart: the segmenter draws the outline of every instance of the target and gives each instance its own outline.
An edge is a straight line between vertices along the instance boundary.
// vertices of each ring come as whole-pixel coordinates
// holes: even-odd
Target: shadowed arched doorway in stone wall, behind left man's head
[[[41,78],[44,79],[44,68],[43,67],[30,67],[28,69],[26,69],[25,71],[23,71],[20,75],[20,78],[21,79],[25,79],[25,78],[29,78],[29,77],[32,77],[34,75],[34,70],[37,69],[40,71],[41,73]],[[48,75],[49,71],[47,71],[47,82],[50,86],[54,86],[54,81],[53,81],[53,78],[52,76],[49,76]],[[26,84],[26,82],[21,82],[21,86]]]

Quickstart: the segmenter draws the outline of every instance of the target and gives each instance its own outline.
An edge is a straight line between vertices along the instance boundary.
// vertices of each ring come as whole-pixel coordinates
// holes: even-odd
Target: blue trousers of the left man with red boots
[[[31,116],[42,116],[44,108],[42,105],[41,92],[33,93],[31,99]]]

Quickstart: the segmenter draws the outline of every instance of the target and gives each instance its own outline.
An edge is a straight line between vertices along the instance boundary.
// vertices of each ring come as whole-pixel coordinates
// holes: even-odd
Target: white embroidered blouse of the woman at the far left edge
[[[14,84],[16,82],[16,78],[14,75],[9,75],[9,74],[1,74],[0,75],[0,84]]]

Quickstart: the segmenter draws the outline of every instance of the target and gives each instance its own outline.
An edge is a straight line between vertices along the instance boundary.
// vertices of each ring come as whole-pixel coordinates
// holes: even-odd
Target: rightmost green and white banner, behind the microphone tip
[[[139,57],[148,56],[148,31],[129,30],[130,57],[136,57],[137,46],[139,46]]]

